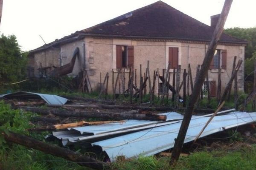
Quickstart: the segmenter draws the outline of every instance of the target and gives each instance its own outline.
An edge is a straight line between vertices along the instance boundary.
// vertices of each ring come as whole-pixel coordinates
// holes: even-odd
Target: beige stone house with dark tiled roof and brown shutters
[[[115,77],[119,68],[125,68],[128,75],[128,68],[132,66],[139,73],[141,64],[145,72],[148,60],[151,77],[154,70],[165,69],[170,62],[171,77],[173,68],[181,65],[181,69],[187,69],[190,63],[194,79],[196,67],[203,62],[218,17],[212,16],[211,26],[207,26],[157,1],[30,51],[29,66],[34,70],[32,74],[38,76],[41,66],[53,68],[70,62],[73,51],[79,47],[80,57],[69,75],[75,76],[81,69],[86,69],[94,90],[99,85],[100,73],[105,75],[108,72],[111,82],[112,71]],[[247,44],[247,41],[222,34],[209,69],[212,96],[216,95],[218,65],[221,66],[221,85],[225,88],[231,76],[233,58],[237,56],[244,60],[244,47]],[[240,91],[244,88],[243,79],[244,65],[238,75]],[[111,93],[112,83],[109,83],[108,89]]]

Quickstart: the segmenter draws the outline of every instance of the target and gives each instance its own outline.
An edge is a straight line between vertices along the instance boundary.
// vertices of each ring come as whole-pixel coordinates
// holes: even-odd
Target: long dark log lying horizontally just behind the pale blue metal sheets
[[[140,114],[140,113],[96,113],[96,112],[81,112],[81,111],[61,111],[58,109],[41,109],[34,107],[20,107],[20,109],[24,109],[26,111],[35,112],[42,115],[53,114],[55,116],[61,117],[86,117],[86,118],[100,118],[100,119],[137,119],[137,120],[166,120],[165,115],[157,115],[157,114]]]

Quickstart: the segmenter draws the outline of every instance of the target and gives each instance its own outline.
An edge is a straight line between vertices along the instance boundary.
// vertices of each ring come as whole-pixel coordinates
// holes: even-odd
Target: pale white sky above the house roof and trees
[[[14,34],[29,51],[157,0],[3,0],[0,34]],[[224,0],[162,0],[205,23],[221,13]],[[224,28],[256,26],[256,0],[233,0]]]

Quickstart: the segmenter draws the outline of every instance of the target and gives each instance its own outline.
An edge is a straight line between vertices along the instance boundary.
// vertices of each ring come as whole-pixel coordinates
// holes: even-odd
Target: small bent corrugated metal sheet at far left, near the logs
[[[26,92],[26,91],[18,91],[15,93],[10,94],[1,94],[1,97],[5,97],[8,99],[13,98],[19,98],[19,99],[43,99],[45,102],[47,102],[49,105],[64,105],[68,99],[52,95],[52,94],[40,94],[40,93],[32,93],[32,92]]]

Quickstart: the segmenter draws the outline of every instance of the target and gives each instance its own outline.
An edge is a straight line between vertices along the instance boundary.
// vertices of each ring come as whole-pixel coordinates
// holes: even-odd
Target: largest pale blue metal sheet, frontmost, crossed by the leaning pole
[[[194,140],[208,120],[209,117],[192,119],[185,143]],[[201,137],[220,132],[224,129],[255,122],[255,120],[256,112],[233,112],[227,115],[215,116]],[[177,122],[171,125],[154,127],[148,130],[94,142],[92,145],[102,147],[102,151],[108,154],[111,161],[114,161],[117,156],[125,156],[126,158],[137,157],[139,155],[150,156],[173,147],[174,139],[177,138],[180,125],[181,122]]]

